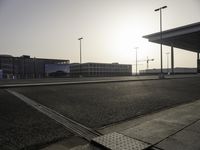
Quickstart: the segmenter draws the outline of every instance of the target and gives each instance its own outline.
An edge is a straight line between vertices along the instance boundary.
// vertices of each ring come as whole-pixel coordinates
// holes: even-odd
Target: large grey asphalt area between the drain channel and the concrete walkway
[[[200,99],[200,78],[13,89],[91,128]]]

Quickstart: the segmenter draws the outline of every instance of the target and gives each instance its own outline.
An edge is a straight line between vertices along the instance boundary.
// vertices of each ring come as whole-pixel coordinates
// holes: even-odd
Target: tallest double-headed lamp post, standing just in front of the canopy
[[[162,10],[165,8],[167,8],[167,6],[163,6],[154,10],[160,12],[160,78],[164,78],[162,64]]]

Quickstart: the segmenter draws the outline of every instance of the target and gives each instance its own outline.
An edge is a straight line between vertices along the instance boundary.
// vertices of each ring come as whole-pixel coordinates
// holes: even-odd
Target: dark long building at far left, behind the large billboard
[[[48,76],[47,64],[69,65],[69,60],[31,58],[28,55],[13,57],[11,55],[0,55],[1,78],[26,79],[43,78]]]

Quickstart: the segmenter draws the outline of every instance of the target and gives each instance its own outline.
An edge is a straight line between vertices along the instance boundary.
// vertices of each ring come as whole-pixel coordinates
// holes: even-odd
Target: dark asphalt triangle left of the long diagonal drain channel
[[[39,149],[73,134],[54,120],[0,90],[0,149]]]

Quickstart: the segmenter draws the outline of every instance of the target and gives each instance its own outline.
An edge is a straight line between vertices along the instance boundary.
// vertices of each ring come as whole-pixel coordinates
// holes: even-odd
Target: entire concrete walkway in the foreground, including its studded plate
[[[53,144],[44,150],[199,150],[200,100],[98,129],[103,136],[68,147]],[[65,146],[63,146],[65,145]],[[78,146],[79,145],[79,146]]]

